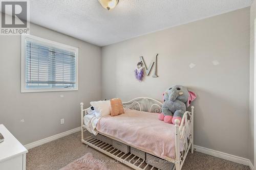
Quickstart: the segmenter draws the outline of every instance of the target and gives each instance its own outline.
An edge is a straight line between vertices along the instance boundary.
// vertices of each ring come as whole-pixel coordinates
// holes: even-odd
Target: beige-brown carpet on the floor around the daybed
[[[122,163],[108,162],[112,160],[111,157],[106,156],[93,148],[86,147],[85,144],[81,143],[80,136],[80,132],[74,133],[29,150],[29,153],[27,154],[27,170],[60,169],[88,152],[92,153],[95,159],[105,160],[105,164],[109,169],[132,169]],[[182,170],[186,169],[249,170],[249,167],[199,152],[194,152],[194,154],[189,153],[186,158]]]

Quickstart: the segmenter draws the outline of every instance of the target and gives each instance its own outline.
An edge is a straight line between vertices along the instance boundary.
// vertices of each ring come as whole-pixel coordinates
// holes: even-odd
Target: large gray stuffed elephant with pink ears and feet
[[[169,124],[175,124],[175,119],[179,119],[181,123],[186,107],[196,98],[197,94],[184,86],[175,85],[168,88],[163,94],[162,113],[158,118]]]

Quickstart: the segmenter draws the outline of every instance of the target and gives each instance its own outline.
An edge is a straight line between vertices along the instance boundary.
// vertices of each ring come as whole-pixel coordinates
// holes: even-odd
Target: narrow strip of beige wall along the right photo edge
[[[251,4],[250,9],[250,105],[249,105],[249,159],[254,161],[254,20],[256,18],[256,2]]]

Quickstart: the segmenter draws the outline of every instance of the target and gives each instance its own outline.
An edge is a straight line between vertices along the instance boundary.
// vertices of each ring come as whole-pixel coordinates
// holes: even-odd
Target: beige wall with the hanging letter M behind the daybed
[[[102,98],[161,100],[170,85],[187,86],[198,94],[195,144],[249,158],[249,30],[245,8],[104,46]],[[157,53],[159,77],[136,81],[139,56],[149,65]]]

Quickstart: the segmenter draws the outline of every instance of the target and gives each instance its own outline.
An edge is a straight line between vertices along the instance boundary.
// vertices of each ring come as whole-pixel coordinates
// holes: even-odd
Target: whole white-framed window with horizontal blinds
[[[78,48],[22,36],[22,92],[78,90]]]

